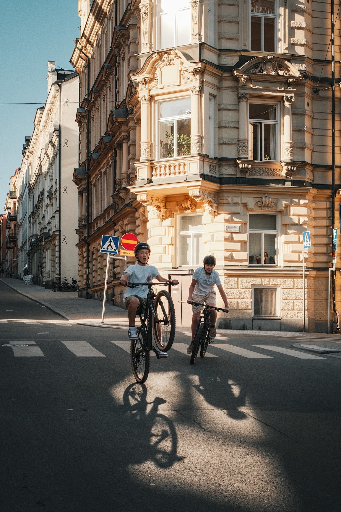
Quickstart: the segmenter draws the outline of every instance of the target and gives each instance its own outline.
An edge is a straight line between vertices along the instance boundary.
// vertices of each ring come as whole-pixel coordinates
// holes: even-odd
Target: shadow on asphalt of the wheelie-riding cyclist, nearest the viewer
[[[124,390],[123,406],[129,422],[125,424],[132,431],[136,443],[130,452],[128,463],[142,463],[153,460],[160,468],[167,468],[182,460],[177,455],[178,437],[174,423],[158,412],[159,406],[166,400],[156,397],[147,401],[147,388],[143,384],[133,383]]]

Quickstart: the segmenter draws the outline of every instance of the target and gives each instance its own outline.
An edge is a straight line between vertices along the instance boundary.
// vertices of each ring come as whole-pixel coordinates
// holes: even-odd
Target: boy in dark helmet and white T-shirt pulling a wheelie
[[[151,248],[145,242],[140,242],[135,246],[135,257],[137,262],[135,265],[127,267],[121,275],[120,284],[128,286],[129,282],[149,283],[153,279],[159,283],[167,283],[168,280],[163,278],[156,267],[148,265],[148,260],[151,255]],[[173,280],[173,285],[179,284],[176,279]],[[128,308],[129,330],[128,337],[130,339],[137,339],[137,329],[135,327],[136,314],[144,311],[147,303],[147,292],[145,287],[141,286],[135,290],[126,288],[124,292],[125,306]]]

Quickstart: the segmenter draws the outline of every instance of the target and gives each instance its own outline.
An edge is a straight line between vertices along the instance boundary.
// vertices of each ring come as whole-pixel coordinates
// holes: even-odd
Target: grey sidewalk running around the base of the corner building
[[[51,291],[38,285],[26,285],[24,281],[13,278],[0,279],[18,293],[51,309],[72,324],[91,325],[106,328],[127,328],[129,326],[126,310],[105,304],[104,322],[102,321],[101,301],[78,297],[75,292]],[[189,332],[190,327],[178,327],[178,332]],[[341,335],[327,333],[286,332],[286,331],[238,331],[217,329],[220,335],[240,334],[258,336],[283,336],[295,338],[292,347],[320,354],[330,354],[341,359]]]

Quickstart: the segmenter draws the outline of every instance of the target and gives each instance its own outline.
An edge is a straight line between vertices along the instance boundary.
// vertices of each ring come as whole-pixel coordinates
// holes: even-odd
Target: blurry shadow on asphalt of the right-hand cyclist
[[[216,409],[226,410],[231,419],[247,419],[247,415],[240,410],[246,406],[247,392],[234,379],[227,379],[224,375],[202,371],[197,372],[199,384],[193,387],[203,396],[206,402]]]

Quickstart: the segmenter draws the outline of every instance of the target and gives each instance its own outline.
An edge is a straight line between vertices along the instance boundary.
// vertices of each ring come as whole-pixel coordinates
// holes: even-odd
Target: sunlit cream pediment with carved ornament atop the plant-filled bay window
[[[200,68],[200,62],[190,62],[181,52],[172,50],[152,54],[131,78],[138,82],[140,89],[162,89],[197,80]]]

